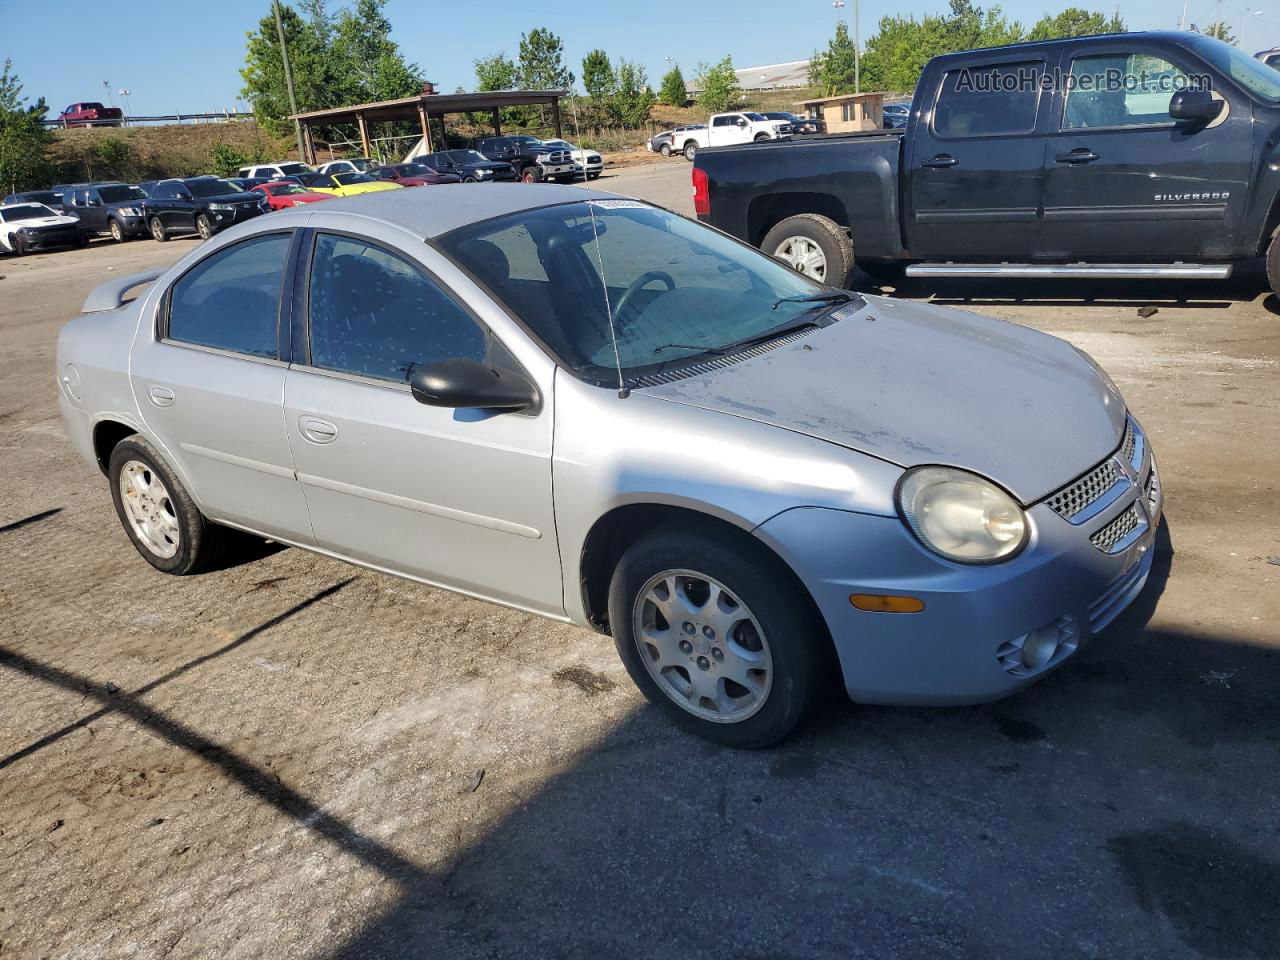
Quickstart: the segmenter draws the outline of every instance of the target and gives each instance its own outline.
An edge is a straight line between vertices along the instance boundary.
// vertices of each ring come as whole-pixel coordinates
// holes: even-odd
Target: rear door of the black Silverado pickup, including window
[[[1056,63],[1057,52],[1048,55]],[[1025,259],[1039,241],[1046,54],[961,60],[908,133],[906,247],[913,257]]]

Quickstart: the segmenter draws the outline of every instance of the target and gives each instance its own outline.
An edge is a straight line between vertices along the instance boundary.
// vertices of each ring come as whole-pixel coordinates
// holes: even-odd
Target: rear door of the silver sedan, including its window
[[[292,233],[215,251],[160,298],[132,356],[143,421],[214,520],[311,543],[284,431],[282,289]],[[151,311],[151,306],[147,306]]]

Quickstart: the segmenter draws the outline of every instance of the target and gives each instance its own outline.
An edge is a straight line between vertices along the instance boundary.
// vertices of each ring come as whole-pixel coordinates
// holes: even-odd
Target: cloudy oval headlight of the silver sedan
[[[897,508],[916,539],[957,563],[1009,559],[1027,543],[1027,515],[991,480],[955,467],[914,467]]]

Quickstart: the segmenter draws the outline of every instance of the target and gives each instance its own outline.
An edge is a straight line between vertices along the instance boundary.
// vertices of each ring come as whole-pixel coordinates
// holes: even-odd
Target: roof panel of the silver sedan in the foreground
[[[365,193],[358,197],[344,197],[324,205],[328,214],[358,214],[394,227],[401,227],[424,239],[439,237],[460,227],[488,220],[494,216],[518,214],[525,210],[539,210],[558,204],[591,200],[626,200],[617,193],[590,192],[581,187],[554,183],[539,184],[530,189],[524,183],[486,183],[483,187],[448,187],[430,191],[389,189],[380,193]],[[279,225],[288,219],[305,219],[314,211],[302,207],[271,214],[271,225]]]

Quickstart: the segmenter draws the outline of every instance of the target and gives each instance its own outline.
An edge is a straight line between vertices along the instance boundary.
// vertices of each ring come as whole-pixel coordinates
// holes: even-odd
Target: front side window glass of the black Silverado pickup
[[[1071,61],[1062,129],[1172,123],[1169,100],[1190,81],[1152,54],[1115,52]]]

